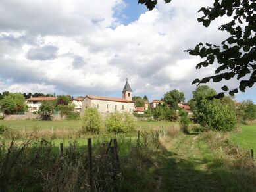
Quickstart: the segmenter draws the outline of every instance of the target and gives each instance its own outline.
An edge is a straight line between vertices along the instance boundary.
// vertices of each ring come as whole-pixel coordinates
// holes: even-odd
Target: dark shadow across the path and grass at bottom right
[[[163,146],[161,148],[164,148]],[[205,158],[188,159],[164,150],[155,153],[159,168],[155,170],[160,186],[157,191],[255,191],[253,172],[242,172],[236,164],[223,159],[207,161]],[[207,164],[206,164],[207,163]]]

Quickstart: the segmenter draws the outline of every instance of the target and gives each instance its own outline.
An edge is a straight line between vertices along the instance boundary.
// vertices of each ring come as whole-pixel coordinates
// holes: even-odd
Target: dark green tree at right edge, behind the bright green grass
[[[256,105],[253,101],[243,101],[242,105],[238,107],[238,118],[243,123],[256,119]]]

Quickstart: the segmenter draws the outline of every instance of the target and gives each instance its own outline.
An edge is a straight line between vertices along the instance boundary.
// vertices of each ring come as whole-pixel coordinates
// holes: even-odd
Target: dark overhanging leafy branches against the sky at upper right
[[[170,0],[165,0],[169,3]],[[139,0],[152,10],[157,4],[157,0]],[[256,82],[256,2],[255,0],[215,0],[213,7],[202,7],[199,12],[203,16],[198,18],[205,27],[209,27],[211,22],[222,16],[231,17],[232,20],[219,27],[219,30],[228,32],[230,35],[222,41],[221,45],[211,43],[199,43],[194,49],[186,50],[190,55],[200,56],[205,60],[197,64],[196,68],[207,67],[214,62],[220,64],[215,70],[215,75],[205,77],[201,80],[195,79],[192,84],[205,84],[213,80],[230,80],[237,78],[239,87],[229,89],[226,85],[223,91],[228,91],[230,95],[238,93],[238,89],[244,92],[246,87],[252,87]],[[224,97],[224,92],[215,95],[219,99]]]

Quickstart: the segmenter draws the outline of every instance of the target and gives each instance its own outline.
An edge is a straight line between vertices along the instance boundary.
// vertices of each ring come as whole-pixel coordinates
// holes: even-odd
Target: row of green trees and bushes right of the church
[[[207,85],[201,85],[192,91],[193,97],[188,101],[192,117],[195,122],[204,128],[218,131],[231,131],[238,123],[256,119],[256,105],[251,100],[238,103],[232,97],[225,96],[215,99],[215,89]],[[165,93],[163,102],[159,102],[154,109],[147,110],[147,114],[154,116],[155,120],[176,121],[182,120],[182,124],[188,126],[188,112],[178,106],[185,100],[184,93],[172,90]]]

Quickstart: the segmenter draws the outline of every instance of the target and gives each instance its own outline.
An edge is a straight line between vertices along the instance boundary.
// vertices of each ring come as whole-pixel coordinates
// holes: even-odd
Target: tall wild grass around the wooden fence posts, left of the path
[[[38,137],[38,130],[28,135],[7,130],[9,141],[3,139],[0,146],[0,191],[153,191],[155,179],[149,174],[156,168],[153,154],[162,153],[161,139],[174,132],[178,129],[141,132],[140,142],[136,133],[95,136],[90,185],[86,145],[72,141],[62,157],[53,139]],[[112,156],[106,154],[113,137],[118,141],[118,172]]]

